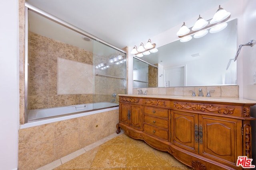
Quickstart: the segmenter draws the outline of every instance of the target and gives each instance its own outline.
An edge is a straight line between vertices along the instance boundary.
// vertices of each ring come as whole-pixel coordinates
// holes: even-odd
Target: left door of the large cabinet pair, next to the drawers
[[[172,143],[198,153],[198,114],[172,110],[171,115]]]

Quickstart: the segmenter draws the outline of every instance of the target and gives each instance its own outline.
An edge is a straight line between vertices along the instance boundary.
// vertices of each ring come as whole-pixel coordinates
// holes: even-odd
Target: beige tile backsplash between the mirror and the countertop
[[[204,96],[210,90],[215,90],[210,92],[212,97],[239,97],[238,85],[232,86],[196,86],[196,87],[168,87],[168,88],[133,88],[132,94],[138,94],[138,90],[141,89],[144,93],[147,90],[147,94],[158,94],[158,95],[176,95],[176,96],[192,96],[192,92],[189,90],[194,90],[196,96],[198,96],[198,90],[202,88]]]

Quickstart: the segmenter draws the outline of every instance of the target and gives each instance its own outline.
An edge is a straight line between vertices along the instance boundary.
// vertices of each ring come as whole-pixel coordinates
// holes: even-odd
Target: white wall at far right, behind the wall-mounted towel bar
[[[244,46],[240,52],[243,57],[243,93],[245,99],[256,100],[256,84],[253,73],[256,71],[256,1],[243,0],[243,39],[240,44],[254,40],[254,46]],[[256,117],[256,106],[252,107],[251,116]],[[256,121],[252,121],[252,158],[256,164]]]

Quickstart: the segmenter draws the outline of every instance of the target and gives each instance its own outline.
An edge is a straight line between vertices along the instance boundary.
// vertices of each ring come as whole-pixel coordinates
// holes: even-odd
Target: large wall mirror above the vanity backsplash
[[[237,19],[227,23],[220,32],[209,32],[204,37],[183,43],[174,41],[159,47],[157,53],[140,59],[163,68],[162,72],[158,71],[159,87],[165,86],[166,82],[169,87],[236,84],[236,62],[231,60],[228,69],[227,66],[236,55]]]

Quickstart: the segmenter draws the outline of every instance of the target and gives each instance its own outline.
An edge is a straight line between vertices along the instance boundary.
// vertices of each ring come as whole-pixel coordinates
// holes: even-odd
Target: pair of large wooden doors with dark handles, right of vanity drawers
[[[172,115],[174,145],[236,167],[243,155],[242,120],[184,111]]]

